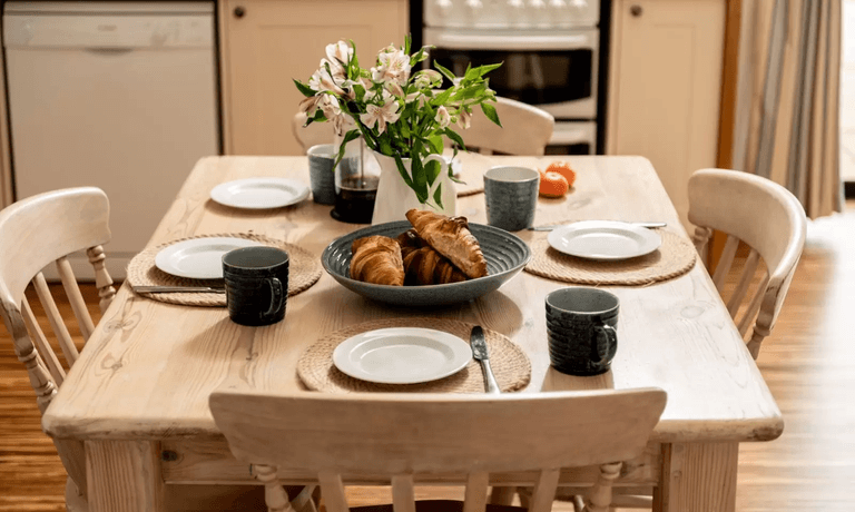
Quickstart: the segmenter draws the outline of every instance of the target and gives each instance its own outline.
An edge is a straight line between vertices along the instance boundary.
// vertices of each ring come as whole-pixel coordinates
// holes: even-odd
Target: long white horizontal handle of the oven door
[[[507,35],[485,33],[436,33],[431,41],[439,48],[449,50],[580,50],[597,48],[597,38],[591,33],[527,35],[509,37]]]

